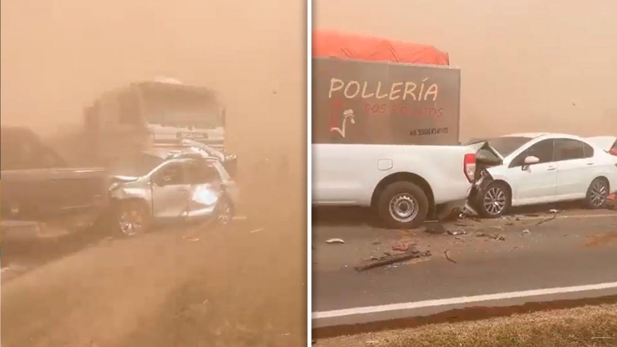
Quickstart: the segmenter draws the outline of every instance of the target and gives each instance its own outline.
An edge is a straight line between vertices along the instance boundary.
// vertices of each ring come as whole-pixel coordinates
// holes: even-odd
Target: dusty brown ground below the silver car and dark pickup
[[[304,184],[262,183],[228,227],[102,238],[3,274],[2,346],[305,345],[305,210],[289,194]]]

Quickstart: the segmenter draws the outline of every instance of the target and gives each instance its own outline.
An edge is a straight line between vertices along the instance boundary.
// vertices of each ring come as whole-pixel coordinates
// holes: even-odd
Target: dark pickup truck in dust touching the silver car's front
[[[0,141],[3,221],[44,222],[74,230],[93,226],[108,210],[106,170],[70,167],[25,128],[0,128]]]

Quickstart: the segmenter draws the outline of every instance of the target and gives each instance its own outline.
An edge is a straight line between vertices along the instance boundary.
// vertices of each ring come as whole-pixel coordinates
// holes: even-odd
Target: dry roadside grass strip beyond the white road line
[[[515,314],[318,340],[320,347],[617,346],[617,304]]]

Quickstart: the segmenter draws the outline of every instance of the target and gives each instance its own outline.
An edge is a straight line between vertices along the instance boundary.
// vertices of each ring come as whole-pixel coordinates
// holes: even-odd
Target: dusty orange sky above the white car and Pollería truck
[[[461,138],[617,132],[617,2],[313,1],[313,28],[431,44],[461,69]]]

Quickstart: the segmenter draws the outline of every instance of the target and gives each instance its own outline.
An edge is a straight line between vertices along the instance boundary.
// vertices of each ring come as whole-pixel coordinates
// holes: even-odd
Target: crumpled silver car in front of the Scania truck
[[[215,220],[228,224],[238,202],[238,186],[213,157],[152,148],[115,162],[109,188],[114,229],[124,235],[152,224]]]

